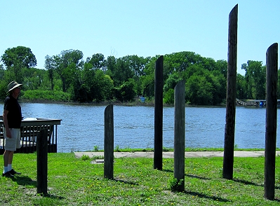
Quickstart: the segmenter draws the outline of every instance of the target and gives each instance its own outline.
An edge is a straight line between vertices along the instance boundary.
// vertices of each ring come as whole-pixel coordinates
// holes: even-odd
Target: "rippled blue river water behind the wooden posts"
[[[3,104],[0,104],[3,108]],[[22,103],[25,118],[58,118],[58,152],[104,147],[105,106]],[[279,111],[279,110],[278,110]],[[186,107],[185,146],[223,148],[225,107]],[[265,148],[266,110],[236,107],[234,144],[239,149]],[[279,112],[278,112],[279,120]],[[279,121],[278,121],[279,128]],[[174,107],[164,107],[164,147],[174,145]],[[279,139],[279,135],[277,135]],[[154,107],[114,106],[114,148],[154,148]],[[276,143],[280,147],[279,141]]]

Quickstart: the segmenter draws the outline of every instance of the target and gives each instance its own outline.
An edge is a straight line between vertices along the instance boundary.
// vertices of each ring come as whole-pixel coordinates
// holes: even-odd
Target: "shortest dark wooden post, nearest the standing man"
[[[37,137],[37,193],[47,194],[48,186],[48,130]]]

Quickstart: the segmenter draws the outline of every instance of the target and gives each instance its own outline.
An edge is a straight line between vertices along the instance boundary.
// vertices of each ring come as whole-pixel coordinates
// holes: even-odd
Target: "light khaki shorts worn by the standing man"
[[[5,150],[16,151],[20,148],[20,129],[11,128],[12,138],[6,137],[6,128],[4,128]]]

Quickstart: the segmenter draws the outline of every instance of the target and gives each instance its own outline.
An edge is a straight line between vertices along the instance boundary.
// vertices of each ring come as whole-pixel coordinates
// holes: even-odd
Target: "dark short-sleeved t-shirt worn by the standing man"
[[[21,107],[18,100],[12,95],[6,97],[4,102],[4,109],[8,110],[8,128],[20,128],[22,114]]]

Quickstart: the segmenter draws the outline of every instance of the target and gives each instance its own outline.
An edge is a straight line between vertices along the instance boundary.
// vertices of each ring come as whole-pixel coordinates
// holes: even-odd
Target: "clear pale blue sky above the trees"
[[[225,0],[1,0],[0,55],[26,46],[44,68],[46,55],[81,50],[154,57],[192,51],[227,60],[229,13],[238,4],[237,72],[247,60],[262,61],[280,40],[280,1]]]

